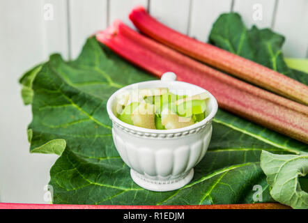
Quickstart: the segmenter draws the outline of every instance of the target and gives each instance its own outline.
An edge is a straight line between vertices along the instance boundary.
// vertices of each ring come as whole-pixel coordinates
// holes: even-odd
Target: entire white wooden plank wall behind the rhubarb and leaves
[[[262,5],[261,21],[253,17],[256,3]],[[117,18],[132,26],[128,13],[140,4],[157,20],[203,42],[218,15],[233,10],[247,26],[272,27],[286,36],[286,56],[308,58],[307,0],[1,0],[0,202],[46,203],[43,187],[56,160],[29,154],[31,107],[22,105],[18,78],[51,53],[75,59],[88,36]],[[50,5],[54,18],[45,20]]]

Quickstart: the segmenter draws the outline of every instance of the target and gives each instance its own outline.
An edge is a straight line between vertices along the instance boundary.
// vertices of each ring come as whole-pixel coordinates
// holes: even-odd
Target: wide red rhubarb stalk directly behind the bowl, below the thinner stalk
[[[123,58],[157,77],[167,71],[175,72],[178,80],[210,91],[221,108],[308,143],[308,107],[305,105],[194,61],[142,36],[121,21],[97,33],[96,38]]]

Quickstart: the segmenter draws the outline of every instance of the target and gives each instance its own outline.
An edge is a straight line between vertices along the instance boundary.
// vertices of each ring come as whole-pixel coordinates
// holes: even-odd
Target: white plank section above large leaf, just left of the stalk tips
[[[107,27],[107,0],[69,0],[70,54],[75,59],[86,38]]]

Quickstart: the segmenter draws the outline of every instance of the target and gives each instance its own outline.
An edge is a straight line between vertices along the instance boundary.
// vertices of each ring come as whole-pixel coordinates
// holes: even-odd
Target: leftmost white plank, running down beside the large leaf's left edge
[[[0,1],[0,201],[46,203],[44,185],[56,156],[30,154],[26,136],[31,107],[25,107],[17,80],[46,59],[43,1]]]

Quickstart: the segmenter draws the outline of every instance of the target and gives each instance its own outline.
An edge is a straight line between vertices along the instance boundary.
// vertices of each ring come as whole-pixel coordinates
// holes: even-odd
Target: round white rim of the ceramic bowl
[[[128,130],[134,131],[134,132],[143,132],[143,133],[148,133],[148,134],[176,134],[176,133],[180,133],[180,132],[190,132],[191,130],[195,130],[197,128],[202,128],[203,126],[207,125],[208,123],[210,123],[210,121],[212,121],[212,119],[214,118],[215,114],[217,113],[218,110],[218,104],[217,104],[217,100],[216,98],[206,89],[201,88],[200,86],[194,85],[194,84],[190,84],[187,82],[180,82],[180,81],[174,81],[173,83],[176,84],[187,84],[187,85],[191,85],[193,88],[198,88],[201,89],[202,91],[206,91],[210,97],[210,100],[213,100],[214,102],[214,106],[212,108],[212,110],[210,111],[210,114],[208,114],[208,116],[206,116],[206,118],[204,118],[202,121],[200,121],[199,123],[194,123],[193,125],[189,125],[186,126],[184,128],[176,128],[173,130],[153,130],[153,129],[148,129],[148,128],[142,128],[136,125],[130,125],[128,123],[125,123],[123,121],[121,121],[118,117],[115,116],[114,112],[112,112],[112,102],[114,102],[114,100],[116,99],[116,95],[118,95],[119,93],[121,93],[122,91],[125,90],[129,90],[132,89],[134,86],[140,86],[142,84],[156,84],[159,85],[160,82],[167,82],[167,81],[163,81],[160,79],[157,80],[153,80],[153,81],[146,81],[146,82],[137,82],[135,84],[130,84],[128,86],[124,86],[121,89],[118,89],[116,92],[114,92],[109,99],[107,100],[107,113],[109,115],[109,118],[111,119],[112,122],[115,122],[116,124],[120,125],[123,128],[127,128]],[[159,86],[153,86],[153,87],[159,87]]]

